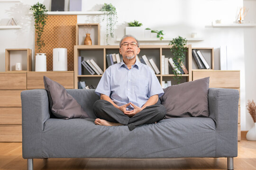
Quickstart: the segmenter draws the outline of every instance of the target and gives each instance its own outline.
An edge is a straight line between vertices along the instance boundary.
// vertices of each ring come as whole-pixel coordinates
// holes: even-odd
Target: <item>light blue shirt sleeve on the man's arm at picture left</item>
[[[106,69],[106,71],[103,73],[95,93],[99,96],[101,96],[101,94],[110,96],[110,68]]]

